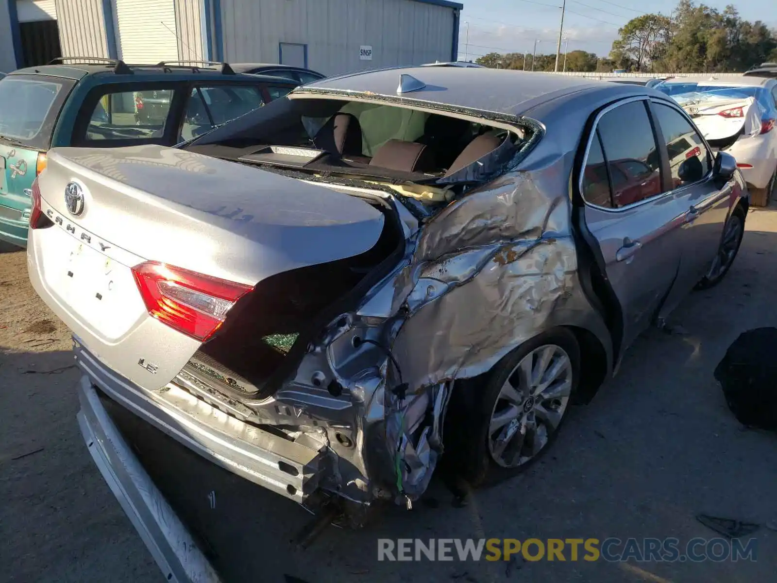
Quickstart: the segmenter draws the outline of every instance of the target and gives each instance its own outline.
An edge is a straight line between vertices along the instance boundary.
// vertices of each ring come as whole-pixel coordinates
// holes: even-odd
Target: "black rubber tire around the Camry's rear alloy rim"
[[[500,390],[524,357],[540,347],[550,345],[562,348],[571,364],[572,386],[561,421],[555,430],[547,434],[547,442],[531,459],[516,467],[500,466],[491,455],[488,435]],[[524,342],[502,358],[487,375],[455,386],[445,419],[444,466],[448,472],[454,472],[471,487],[497,484],[523,472],[552,445],[569,414],[579,381],[580,347],[570,330],[555,328]]]

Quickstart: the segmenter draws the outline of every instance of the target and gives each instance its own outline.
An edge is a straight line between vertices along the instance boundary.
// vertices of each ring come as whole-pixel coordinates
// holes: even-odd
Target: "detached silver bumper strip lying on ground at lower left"
[[[154,485],[85,376],[78,382],[78,425],[89,453],[168,581],[221,579]]]

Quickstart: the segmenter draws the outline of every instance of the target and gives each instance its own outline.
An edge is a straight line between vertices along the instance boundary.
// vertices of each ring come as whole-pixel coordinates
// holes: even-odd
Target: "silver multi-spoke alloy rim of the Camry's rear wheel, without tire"
[[[488,429],[491,458],[500,466],[522,466],[547,445],[561,423],[573,386],[569,354],[545,344],[527,354],[497,396]]]

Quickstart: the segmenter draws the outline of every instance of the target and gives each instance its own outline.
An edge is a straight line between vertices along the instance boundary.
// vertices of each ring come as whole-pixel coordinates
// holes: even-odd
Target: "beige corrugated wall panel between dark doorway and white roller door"
[[[63,57],[109,56],[103,0],[60,0],[57,23]]]

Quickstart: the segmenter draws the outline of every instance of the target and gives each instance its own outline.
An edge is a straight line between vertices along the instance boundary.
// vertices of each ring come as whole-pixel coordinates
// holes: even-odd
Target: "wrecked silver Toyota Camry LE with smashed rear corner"
[[[352,515],[412,505],[438,463],[509,477],[723,278],[748,204],[663,93],[444,67],[323,79],[178,148],[55,148],[33,201],[82,431],[158,522],[104,400]]]

